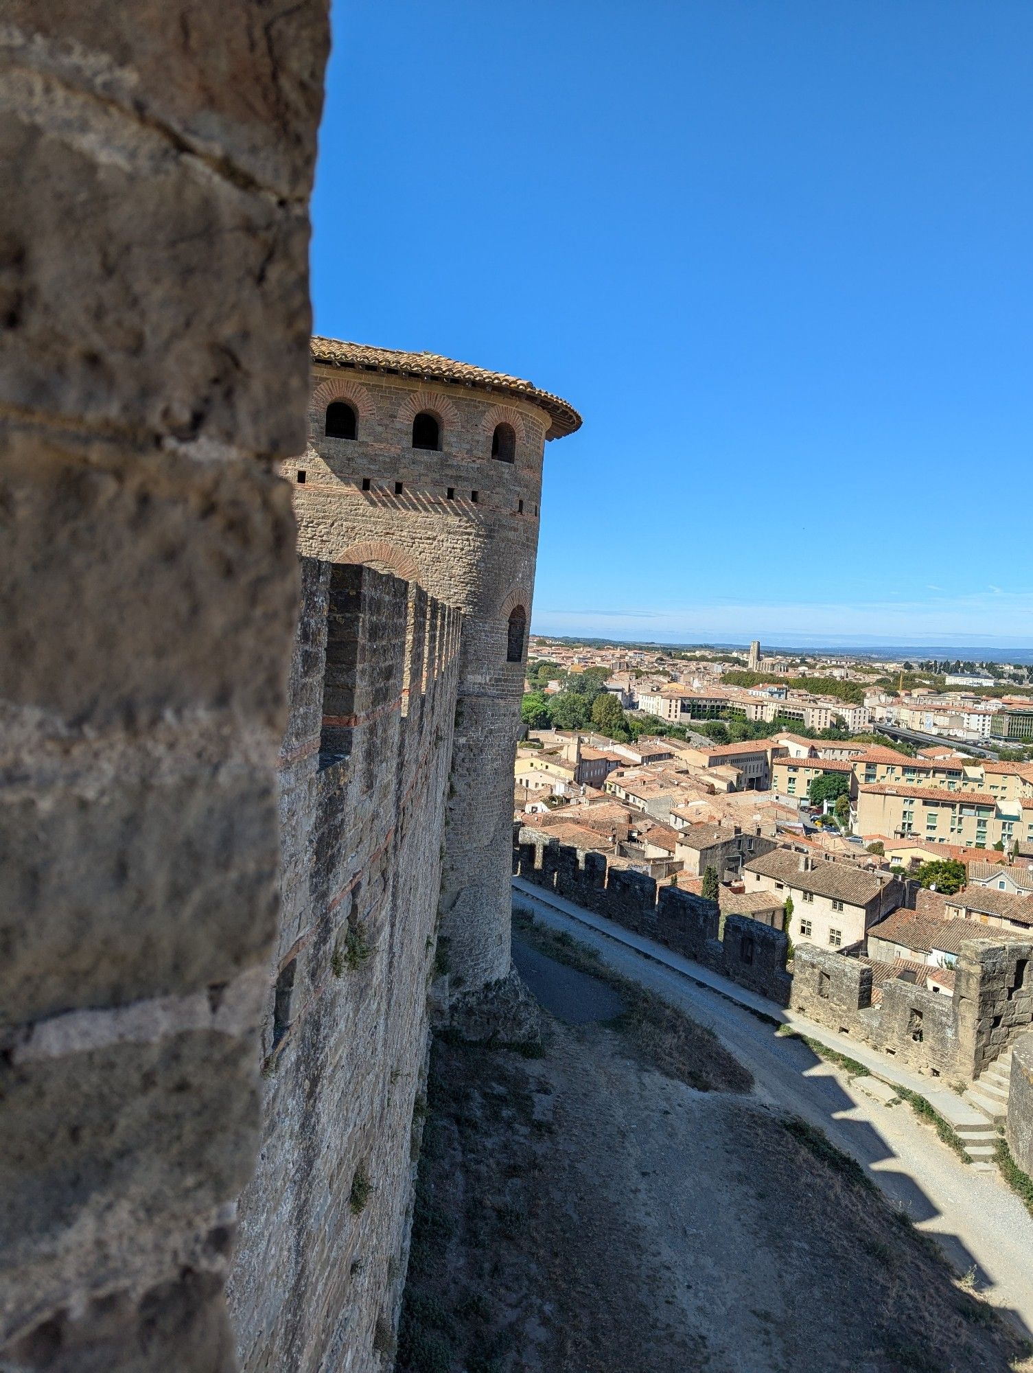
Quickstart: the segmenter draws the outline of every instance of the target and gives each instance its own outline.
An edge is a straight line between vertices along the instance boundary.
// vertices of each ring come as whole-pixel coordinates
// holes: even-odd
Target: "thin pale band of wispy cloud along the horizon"
[[[930,588],[931,589],[931,588]],[[777,643],[1033,644],[1033,592],[992,586],[963,597],[934,596],[911,601],[725,603],[673,610],[629,607],[620,611],[536,605],[538,633],[620,636],[643,633],[679,640],[750,640]]]

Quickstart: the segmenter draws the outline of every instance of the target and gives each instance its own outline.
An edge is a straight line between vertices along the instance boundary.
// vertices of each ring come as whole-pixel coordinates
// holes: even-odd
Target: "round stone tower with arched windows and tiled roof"
[[[578,413],[529,382],[431,353],[316,338],[299,549],[418,582],[463,611],[441,935],[452,989],[510,973],[512,766],[547,439]]]

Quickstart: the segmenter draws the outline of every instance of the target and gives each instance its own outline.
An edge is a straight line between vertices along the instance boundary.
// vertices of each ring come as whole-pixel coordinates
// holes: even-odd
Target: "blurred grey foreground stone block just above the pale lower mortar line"
[[[8,787],[4,1020],[229,982],[268,949],[277,909],[268,777],[174,754],[144,759],[154,766],[144,776],[139,758],[124,762],[136,776]]]

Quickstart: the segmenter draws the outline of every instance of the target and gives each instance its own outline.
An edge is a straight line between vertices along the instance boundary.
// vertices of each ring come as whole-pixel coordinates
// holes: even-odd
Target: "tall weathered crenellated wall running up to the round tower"
[[[360,566],[304,559],[302,586],[231,1311],[249,1373],[367,1373],[405,1273],[460,612]]]

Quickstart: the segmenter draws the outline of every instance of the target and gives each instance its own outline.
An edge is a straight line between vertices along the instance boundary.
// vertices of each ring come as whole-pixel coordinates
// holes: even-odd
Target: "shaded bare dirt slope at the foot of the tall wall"
[[[556,1019],[541,1059],[438,1041],[398,1373],[1011,1366],[1014,1335],[823,1135],[650,1052]]]

